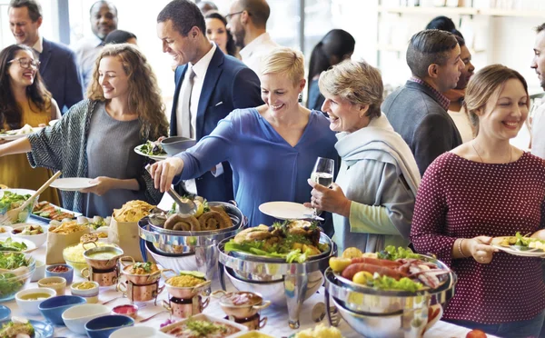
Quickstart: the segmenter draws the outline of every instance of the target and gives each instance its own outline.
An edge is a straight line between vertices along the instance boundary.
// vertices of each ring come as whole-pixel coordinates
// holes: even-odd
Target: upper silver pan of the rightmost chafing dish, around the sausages
[[[448,269],[445,263],[421,255],[421,258],[436,263],[440,268]],[[436,289],[422,290],[416,293],[396,290],[377,290],[372,287],[346,283],[328,268],[325,273],[326,289],[332,297],[342,300],[343,305],[358,313],[387,314],[407,309],[428,308],[431,303],[446,303],[454,295],[454,285],[458,282],[456,273],[447,273],[446,281]]]

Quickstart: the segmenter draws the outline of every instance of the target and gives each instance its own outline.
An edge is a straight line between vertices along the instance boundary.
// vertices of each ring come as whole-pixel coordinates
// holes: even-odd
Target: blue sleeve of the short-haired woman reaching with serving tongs
[[[174,184],[178,184],[181,180],[199,177],[210,171],[216,164],[229,161],[237,138],[233,127],[234,114],[236,111],[227,115],[213,132],[203,137],[198,144],[175,155],[183,160],[183,172],[174,177]]]

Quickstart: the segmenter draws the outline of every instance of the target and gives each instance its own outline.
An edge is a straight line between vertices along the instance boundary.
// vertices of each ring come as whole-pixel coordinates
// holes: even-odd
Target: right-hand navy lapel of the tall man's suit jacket
[[[200,140],[203,137],[204,115],[206,114],[206,107],[210,104],[210,99],[212,98],[216,83],[223,72],[223,57],[222,50],[216,47],[212,60],[210,60],[210,65],[208,65],[208,69],[206,70],[206,75],[204,76],[203,90],[201,91],[201,97],[199,97],[199,105],[197,107],[197,140]]]

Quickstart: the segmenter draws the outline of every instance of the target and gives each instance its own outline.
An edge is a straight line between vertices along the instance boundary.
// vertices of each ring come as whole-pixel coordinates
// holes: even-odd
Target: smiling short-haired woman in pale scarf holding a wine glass
[[[333,214],[339,252],[406,246],[421,176],[411,149],[381,113],[381,73],[346,60],[322,73],[318,84],[342,163],[331,189],[309,180],[307,205]]]

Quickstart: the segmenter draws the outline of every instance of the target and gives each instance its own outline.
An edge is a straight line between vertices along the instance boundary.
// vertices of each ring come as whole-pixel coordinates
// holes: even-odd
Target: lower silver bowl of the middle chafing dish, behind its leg
[[[231,283],[238,291],[246,291],[250,293],[259,293],[263,299],[271,301],[271,306],[287,306],[285,286],[283,280],[277,282],[251,282],[237,278],[233,269],[226,267],[225,274],[229,277]],[[316,271],[309,274],[309,283],[307,283],[306,293],[304,293],[303,301],[309,299],[312,294],[316,293],[323,284],[323,274]]]

